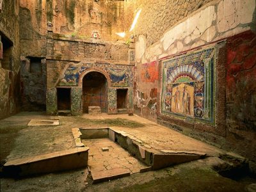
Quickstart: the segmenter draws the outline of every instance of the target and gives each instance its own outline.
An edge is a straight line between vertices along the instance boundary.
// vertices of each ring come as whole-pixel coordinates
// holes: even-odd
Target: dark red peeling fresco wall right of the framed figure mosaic
[[[227,40],[227,143],[256,159],[256,35],[247,31]],[[242,147],[243,146],[243,147]],[[228,149],[230,149],[228,148]],[[244,150],[246,148],[246,150]],[[252,163],[253,164],[253,163]],[[254,162],[256,170],[256,163]]]

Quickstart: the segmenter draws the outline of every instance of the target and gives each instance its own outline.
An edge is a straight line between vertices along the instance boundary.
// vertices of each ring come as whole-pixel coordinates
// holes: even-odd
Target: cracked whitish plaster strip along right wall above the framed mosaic
[[[254,12],[255,0],[218,0],[172,26],[150,47],[147,47],[146,36],[136,34],[136,65],[247,31],[255,25],[252,23]]]

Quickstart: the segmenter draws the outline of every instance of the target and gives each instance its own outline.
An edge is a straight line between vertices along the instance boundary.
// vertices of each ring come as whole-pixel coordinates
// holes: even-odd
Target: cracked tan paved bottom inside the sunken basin
[[[108,174],[139,173],[147,166],[132,157],[127,150],[108,138],[82,140],[90,148],[88,166],[93,180],[107,177]],[[102,148],[109,150],[102,151]]]

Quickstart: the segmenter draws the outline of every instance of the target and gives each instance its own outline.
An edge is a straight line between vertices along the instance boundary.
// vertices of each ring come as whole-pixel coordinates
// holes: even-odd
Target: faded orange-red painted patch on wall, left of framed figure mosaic
[[[158,64],[156,61],[144,63],[141,70],[141,81],[145,83],[154,83],[158,80]]]

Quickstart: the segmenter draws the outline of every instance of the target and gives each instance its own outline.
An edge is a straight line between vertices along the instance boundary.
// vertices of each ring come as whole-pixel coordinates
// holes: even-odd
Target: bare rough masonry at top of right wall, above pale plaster
[[[147,36],[146,44],[150,46],[156,43],[168,28],[209,2],[211,0],[126,1],[125,20],[130,24],[134,16],[131,13],[141,8],[142,12],[135,27],[135,33]]]

